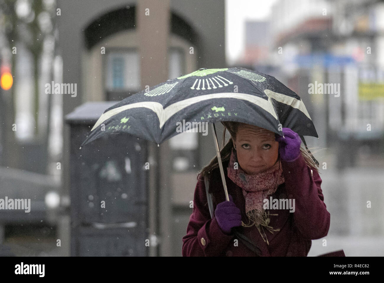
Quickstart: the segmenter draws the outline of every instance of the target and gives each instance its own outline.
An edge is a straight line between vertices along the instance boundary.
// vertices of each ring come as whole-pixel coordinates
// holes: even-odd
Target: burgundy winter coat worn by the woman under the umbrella
[[[242,220],[248,223],[245,215],[245,200],[242,188],[227,176],[228,162],[223,162],[228,194],[242,213]],[[330,214],[323,202],[319,174],[305,163],[304,157],[293,162],[281,160],[285,183],[278,186],[272,194],[275,199],[295,199],[295,212],[289,209],[266,209],[270,214],[270,226],[280,231],[270,233],[264,229],[269,246],[264,242],[257,228],[241,227],[241,232],[251,239],[262,251],[262,256],[307,256],[312,239],[323,238],[328,234]],[[212,193],[214,209],[225,201],[225,194],[219,169],[212,172],[209,180],[209,191]],[[197,176],[198,182],[194,194],[194,208],[187,226],[187,234],[183,237],[182,256],[257,256],[233,234],[225,234],[218,226],[216,218],[211,219],[207,204],[204,178]],[[268,196],[270,199],[270,196]],[[233,229],[232,229],[233,230]]]

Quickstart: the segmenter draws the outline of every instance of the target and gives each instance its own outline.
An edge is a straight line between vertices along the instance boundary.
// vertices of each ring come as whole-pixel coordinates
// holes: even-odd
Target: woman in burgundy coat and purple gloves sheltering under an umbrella
[[[240,122],[222,124],[231,135],[220,152],[230,201],[215,157],[197,176],[182,255],[256,256],[234,235],[239,229],[261,256],[307,256],[311,240],[328,234],[330,214],[316,164],[300,147],[300,137],[288,128],[283,138]],[[212,219],[204,178],[213,196]]]

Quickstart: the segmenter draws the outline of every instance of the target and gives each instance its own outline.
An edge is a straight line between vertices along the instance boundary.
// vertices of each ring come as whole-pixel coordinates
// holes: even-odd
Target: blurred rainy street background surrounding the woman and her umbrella
[[[0,198],[31,199],[0,210],[0,255],[181,256],[212,133],[79,146],[117,101],[203,67],[304,101],[331,213],[308,256],[384,255],[384,1],[0,0],[0,66]]]

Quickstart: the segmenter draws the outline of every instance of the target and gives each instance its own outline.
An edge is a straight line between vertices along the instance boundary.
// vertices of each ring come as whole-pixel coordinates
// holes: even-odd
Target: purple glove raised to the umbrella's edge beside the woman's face
[[[295,161],[300,156],[301,139],[290,128],[283,128],[282,136],[276,135],[275,141],[279,142],[280,158],[284,161]]]

